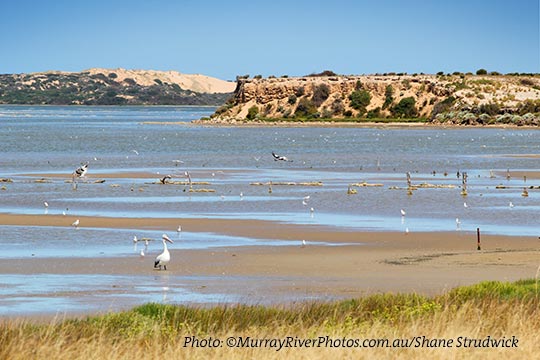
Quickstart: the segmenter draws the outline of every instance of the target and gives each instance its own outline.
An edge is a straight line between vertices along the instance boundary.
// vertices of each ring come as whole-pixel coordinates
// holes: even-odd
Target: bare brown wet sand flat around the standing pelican
[[[482,236],[482,250],[478,251],[476,233],[458,231],[404,234],[238,219],[78,218],[81,227],[172,232],[181,223],[191,232],[297,240],[298,245],[175,250],[173,244],[167,271],[154,270],[153,257],[134,255],[5,259],[0,263],[0,273],[208,276],[192,285],[192,290],[237,294],[249,301],[252,296],[350,298],[378,292],[434,295],[483,280],[534,278],[540,265],[537,237]],[[70,226],[73,219],[61,215],[0,215],[3,225]],[[306,240],[306,246],[301,245],[302,240]],[[318,244],[322,241],[347,245]],[[253,284],[259,285],[256,290]]]

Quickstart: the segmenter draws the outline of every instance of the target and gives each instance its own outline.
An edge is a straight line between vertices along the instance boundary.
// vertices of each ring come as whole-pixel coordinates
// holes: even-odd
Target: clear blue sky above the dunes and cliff
[[[0,0],[0,73],[540,72],[539,0]]]

